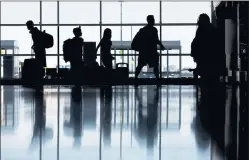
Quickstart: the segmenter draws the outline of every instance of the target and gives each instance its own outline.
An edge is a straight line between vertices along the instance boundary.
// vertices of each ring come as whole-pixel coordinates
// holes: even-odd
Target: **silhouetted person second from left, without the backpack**
[[[76,80],[79,78],[78,74],[80,74],[80,70],[83,68],[83,45],[84,39],[81,37],[82,32],[81,28],[73,29],[74,38],[71,39],[72,43],[72,51],[70,53],[70,64],[71,64],[71,73],[73,74],[73,78]]]

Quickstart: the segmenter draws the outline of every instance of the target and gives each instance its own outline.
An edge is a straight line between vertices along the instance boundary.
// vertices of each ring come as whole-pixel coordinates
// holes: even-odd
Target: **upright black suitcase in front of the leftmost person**
[[[36,60],[34,58],[25,59],[22,67],[22,80],[26,83],[35,81],[36,75]]]

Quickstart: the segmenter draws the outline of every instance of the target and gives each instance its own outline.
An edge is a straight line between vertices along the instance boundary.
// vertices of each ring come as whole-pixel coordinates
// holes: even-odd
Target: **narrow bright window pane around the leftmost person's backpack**
[[[55,26],[42,26],[42,31],[46,31],[46,33],[51,34],[54,37],[54,46],[52,48],[46,49],[46,54],[57,54],[57,46],[58,46],[58,32],[57,27]]]

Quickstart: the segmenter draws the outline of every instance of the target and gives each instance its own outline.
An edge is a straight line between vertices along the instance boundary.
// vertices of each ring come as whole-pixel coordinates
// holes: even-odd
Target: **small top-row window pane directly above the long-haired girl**
[[[102,23],[108,24],[108,23],[120,23],[120,22],[121,22],[120,2],[102,2]]]

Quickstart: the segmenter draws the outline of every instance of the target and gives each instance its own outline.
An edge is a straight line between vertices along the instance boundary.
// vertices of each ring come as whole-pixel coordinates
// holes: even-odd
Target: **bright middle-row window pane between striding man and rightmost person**
[[[163,26],[163,41],[179,41],[182,46],[182,54],[190,54],[191,43],[195,37],[196,26]],[[175,53],[179,53],[174,51]],[[174,53],[173,52],[173,53]]]

